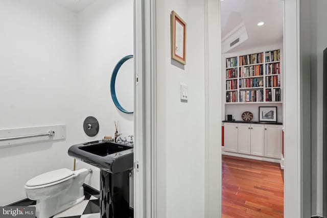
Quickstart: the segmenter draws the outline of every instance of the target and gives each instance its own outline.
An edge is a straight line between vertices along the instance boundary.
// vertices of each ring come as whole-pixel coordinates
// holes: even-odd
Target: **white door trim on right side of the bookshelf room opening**
[[[299,0],[284,1],[284,217],[302,217],[299,8]]]

